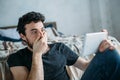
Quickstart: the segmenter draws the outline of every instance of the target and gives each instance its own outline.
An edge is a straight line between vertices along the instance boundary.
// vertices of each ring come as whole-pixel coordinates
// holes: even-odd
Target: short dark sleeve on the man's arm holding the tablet
[[[78,59],[78,55],[65,44],[61,44],[61,53],[65,56],[67,65],[73,65]]]

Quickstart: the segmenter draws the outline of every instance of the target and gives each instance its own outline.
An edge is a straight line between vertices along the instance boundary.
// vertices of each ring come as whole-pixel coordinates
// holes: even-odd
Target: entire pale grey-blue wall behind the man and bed
[[[26,12],[37,11],[58,30],[80,35],[106,28],[120,40],[120,0],[0,0],[0,27],[17,25]]]

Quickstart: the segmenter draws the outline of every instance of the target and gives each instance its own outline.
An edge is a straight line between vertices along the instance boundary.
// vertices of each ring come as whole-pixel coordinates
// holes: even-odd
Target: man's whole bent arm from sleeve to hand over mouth
[[[33,51],[30,72],[23,66],[11,68],[15,80],[44,80],[42,54],[48,49],[46,37],[46,34],[44,34],[41,39],[37,37],[33,44],[33,49],[28,47]]]

